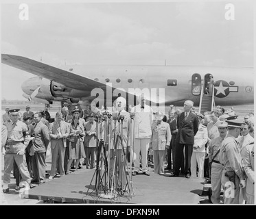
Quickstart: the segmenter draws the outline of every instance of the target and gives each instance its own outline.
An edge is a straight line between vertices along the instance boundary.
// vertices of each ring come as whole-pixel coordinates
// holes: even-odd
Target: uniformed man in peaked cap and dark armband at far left
[[[8,139],[5,144],[5,164],[3,171],[3,192],[8,192],[10,173],[15,161],[21,173],[21,182],[30,184],[30,173],[27,170],[25,149],[30,142],[27,125],[19,120],[19,109],[10,110],[10,123],[6,125]]]

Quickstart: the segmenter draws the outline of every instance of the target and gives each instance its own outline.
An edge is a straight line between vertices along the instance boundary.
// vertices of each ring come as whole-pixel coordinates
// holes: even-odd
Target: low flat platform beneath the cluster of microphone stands
[[[156,175],[132,177],[132,196],[117,196],[114,199],[99,198],[95,195],[95,170],[78,170],[65,177],[55,178],[27,191],[26,198],[48,203],[91,203],[91,204],[198,204],[202,194],[202,180],[185,177]],[[92,185],[90,185],[90,183]]]

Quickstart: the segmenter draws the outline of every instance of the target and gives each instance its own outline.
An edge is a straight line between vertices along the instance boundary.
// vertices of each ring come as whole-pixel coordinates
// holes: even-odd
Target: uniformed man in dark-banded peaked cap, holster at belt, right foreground
[[[229,133],[220,146],[219,160],[224,166],[222,186],[224,187],[224,204],[240,203],[240,188],[246,185],[242,168],[242,157],[235,138],[240,135],[242,124],[240,120],[226,120]]]

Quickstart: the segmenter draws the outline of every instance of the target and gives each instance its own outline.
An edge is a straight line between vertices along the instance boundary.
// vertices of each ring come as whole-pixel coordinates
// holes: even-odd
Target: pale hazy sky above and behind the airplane
[[[1,53],[61,68],[66,64],[183,64],[253,66],[253,3],[1,4]],[[21,83],[34,75],[1,64],[5,99],[24,99]]]

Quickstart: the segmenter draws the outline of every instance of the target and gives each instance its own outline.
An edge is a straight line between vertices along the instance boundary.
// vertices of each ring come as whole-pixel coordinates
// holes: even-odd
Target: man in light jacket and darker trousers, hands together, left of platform
[[[54,179],[57,160],[60,168],[60,176],[65,175],[64,156],[69,132],[69,125],[62,120],[62,113],[57,112],[54,123],[51,123],[49,127],[49,136],[51,138],[51,175],[49,179]]]

